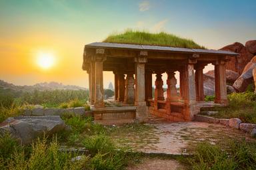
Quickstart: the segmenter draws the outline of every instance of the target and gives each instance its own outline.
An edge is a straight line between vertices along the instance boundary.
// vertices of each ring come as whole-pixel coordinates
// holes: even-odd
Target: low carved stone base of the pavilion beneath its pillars
[[[227,106],[227,104],[196,102],[193,105],[187,105],[183,101],[167,102],[166,100],[158,100],[157,105],[155,105],[155,100],[151,99],[147,103],[147,106],[145,106],[146,109],[144,108],[144,115],[148,118],[151,118],[150,115],[164,118],[167,122],[190,122],[193,120],[193,117],[187,114],[187,111],[197,114],[201,108],[212,108],[215,106]],[[112,126],[141,122],[137,119],[138,116],[136,116],[136,113],[141,108],[123,102],[111,101],[107,107],[94,108],[91,106],[91,110],[93,111],[94,121],[97,124]],[[147,122],[148,120],[144,119],[143,122]]]

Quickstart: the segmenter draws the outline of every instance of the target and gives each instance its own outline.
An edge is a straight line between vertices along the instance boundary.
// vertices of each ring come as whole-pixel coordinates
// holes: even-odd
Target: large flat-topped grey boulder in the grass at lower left
[[[65,128],[65,123],[59,116],[20,116],[8,118],[0,124],[0,132],[11,133],[25,145],[44,132],[51,135]]]

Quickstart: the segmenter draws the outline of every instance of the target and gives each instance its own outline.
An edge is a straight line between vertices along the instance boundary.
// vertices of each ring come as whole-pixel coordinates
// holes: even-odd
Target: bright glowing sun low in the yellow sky
[[[43,69],[51,68],[54,62],[55,56],[52,53],[39,52],[39,54],[37,54],[37,64]]]

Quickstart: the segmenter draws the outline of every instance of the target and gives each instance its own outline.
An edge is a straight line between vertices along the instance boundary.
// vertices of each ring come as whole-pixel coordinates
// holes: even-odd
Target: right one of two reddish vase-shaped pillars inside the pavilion
[[[176,84],[177,80],[175,78],[175,73],[173,71],[168,71],[167,72],[167,99],[168,101],[175,101],[178,98],[177,95],[177,89],[176,89]]]

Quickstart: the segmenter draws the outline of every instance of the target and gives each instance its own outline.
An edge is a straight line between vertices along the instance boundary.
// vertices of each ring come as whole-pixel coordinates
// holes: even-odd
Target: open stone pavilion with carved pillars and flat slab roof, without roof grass
[[[85,45],[83,70],[89,74],[90,104],[95,121],[102,124],[147,122],[149,114],[170,122],[193,120],[201,107],[227,105],[224,50],[173,48],[94,42]],[[215,102],[205,102],[203,68],[215,66]],[[115,103],[103,100],[103,71],[115,74]],[[175,72],[179,72],[179,89]],[[167,97],[162,74],[167,73]],[[152,74],[156,74],[153,96]],[[121,106],[121,107],[120,107]]]

